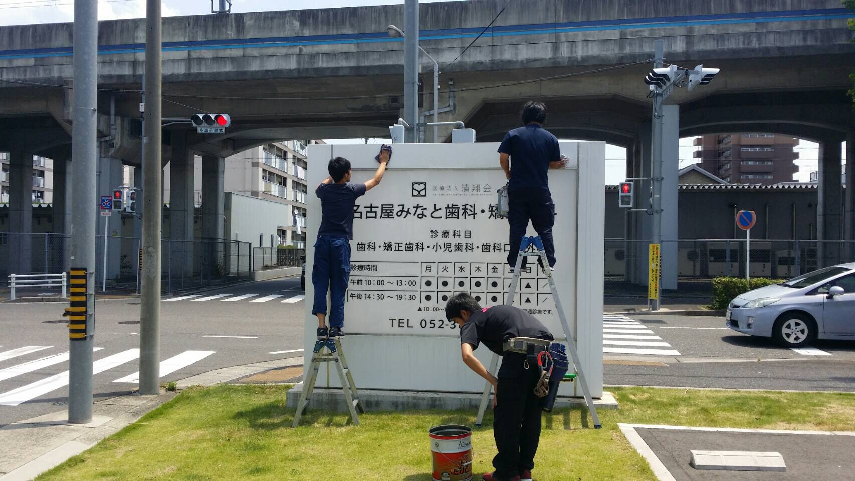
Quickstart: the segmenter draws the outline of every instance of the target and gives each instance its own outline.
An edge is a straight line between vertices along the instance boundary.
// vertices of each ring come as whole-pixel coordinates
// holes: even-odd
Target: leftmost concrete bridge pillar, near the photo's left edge
[[[32,153],[9,151],[9,273],[32,272]]]

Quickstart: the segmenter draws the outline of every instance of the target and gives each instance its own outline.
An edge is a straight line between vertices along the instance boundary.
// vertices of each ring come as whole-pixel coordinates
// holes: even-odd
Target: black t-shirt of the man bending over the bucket
[[[460,327],[461,344],[471,344],[472,349],[478,349],[483,343],[487,349],[498,355],[503,355],[504,342],[511,337],[535,337],[550,341],[554,339],[546,326],[532,314],[504,304],[472,313]],[[516,353],[509,353],[511,354]],[[506,361],[502,362],[500,374],[510,373],[505,369]],[[510,363],[508,364],[510,369]]]

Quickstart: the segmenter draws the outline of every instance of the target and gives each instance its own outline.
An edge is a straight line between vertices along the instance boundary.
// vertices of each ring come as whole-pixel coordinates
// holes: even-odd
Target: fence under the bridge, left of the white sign
[[[104,248],[106,247],[106,257]],[[97,236],[97,290],[139,291],[139,238]],[[67,234],[0,233],[0,285],[9,273],[67,272],[71,249]],[[161,243],[161,286],[164,292],[188,290],[251,279],[251,243],[202,239]]]

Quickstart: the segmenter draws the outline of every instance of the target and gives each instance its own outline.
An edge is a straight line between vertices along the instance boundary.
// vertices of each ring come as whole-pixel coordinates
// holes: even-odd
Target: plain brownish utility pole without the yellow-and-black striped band
[[[160,392],[161,302],[161,0],[146,0],[143,138],[143,268],[139,304],[139,393]]]

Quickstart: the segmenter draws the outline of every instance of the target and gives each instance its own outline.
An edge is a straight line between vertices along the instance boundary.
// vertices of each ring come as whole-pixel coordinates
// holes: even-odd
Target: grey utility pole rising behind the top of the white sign
[[[404,120],[410,124],[408,144],[418,142],[419,132],[419,0],[404,2]]]

